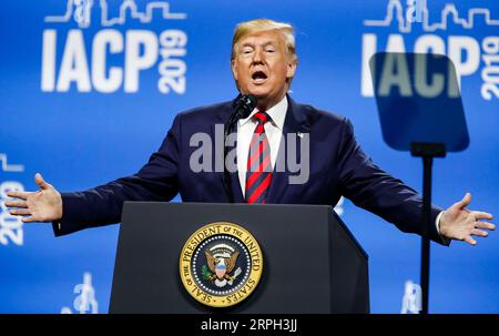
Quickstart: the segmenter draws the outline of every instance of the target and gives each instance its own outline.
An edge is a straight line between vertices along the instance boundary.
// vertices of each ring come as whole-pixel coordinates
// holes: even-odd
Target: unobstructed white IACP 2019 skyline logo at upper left
[[[141,72],[157,63],[157,90],[185,93],[187,65],[182,58],[187,34],[142,26],[151,27],[153,19],[174,23],[186,17],[172,12],[165,1],[140,8],[134,0],[123,0],[111,8],[106,0],[68,0],[64,13],[44,18],[50,28],[43,30],[41,91],[67,92],[74,86],[78,92],[134,93]]]

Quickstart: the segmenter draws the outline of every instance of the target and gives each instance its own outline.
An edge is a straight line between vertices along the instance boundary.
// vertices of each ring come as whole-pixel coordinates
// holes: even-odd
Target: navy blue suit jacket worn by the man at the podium
[[[309,179],[305,184],[289,184],[288,170],[274,172],[267,203],[334,206],[344,195],[403,232],[421,234],[422,197],[373,163],[356,142],[346,118],[296,103],[289,96],[288,102],[283,134],[309,133]],[[191,154],[197,150],[190,140],[198,132],[215,139],[215,124],[228,119],[232,103],[177,114],[157,152],[136,174],[84,192],[62,193],[63,217],[53,223],[54,234],[119,223],[124,201],[167,202],[180,193],[183,202],[227,202],[222,172],[195,173],[190,169]],[[297,155],[299,162],[299,151]],[[237,172],[231,177],[235,202],[244,203]],[[432,222],[440,211],[432,207]],[[430,237],[448,244],[435,225]]]

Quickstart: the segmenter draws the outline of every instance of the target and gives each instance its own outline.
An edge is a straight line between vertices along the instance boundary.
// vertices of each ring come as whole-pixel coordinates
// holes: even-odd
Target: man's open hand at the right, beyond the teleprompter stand
[[[491,221],[492,215],[480,211],[469,211],[466,206],[471,202],[471,194],[447,208],[440,217],[440,234],[447,238],[465,241],[476,245],[471,236],[486,237],[489,233],[485,230],[496,230],[496,225],[482,220]]]

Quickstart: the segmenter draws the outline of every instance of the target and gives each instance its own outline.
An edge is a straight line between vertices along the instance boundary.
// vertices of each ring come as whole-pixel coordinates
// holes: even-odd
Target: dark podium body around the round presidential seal
[[[254,292],[214,308],[184,288],[189,237],[214,222],[247,230],[263,253]],[[367,254],[327,205],[125,202],[110,313],[369,313]]]

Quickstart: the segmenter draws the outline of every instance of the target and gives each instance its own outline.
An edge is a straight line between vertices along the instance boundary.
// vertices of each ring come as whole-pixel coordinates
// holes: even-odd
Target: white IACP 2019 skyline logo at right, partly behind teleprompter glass
[[[379,44],[385,38],[377,32],[398,30],[399,33],[387,35],[383,51],[406,52],[413,42],[414,52],[446,54],[456,67],[459,84],[462,77],[481,70],[482,99],[499,99],[499,13],[488,8],[465,11],[454,3],[446,3],[441,11],[430,11],[426,0],[407,0],[406,7],[403,2],[389,0],[385,18],[364,21],[373,32],[363,34],[361,94],[374,95],[369,59],[383,48]],[[449,34],[450,31],[462,34]]]

